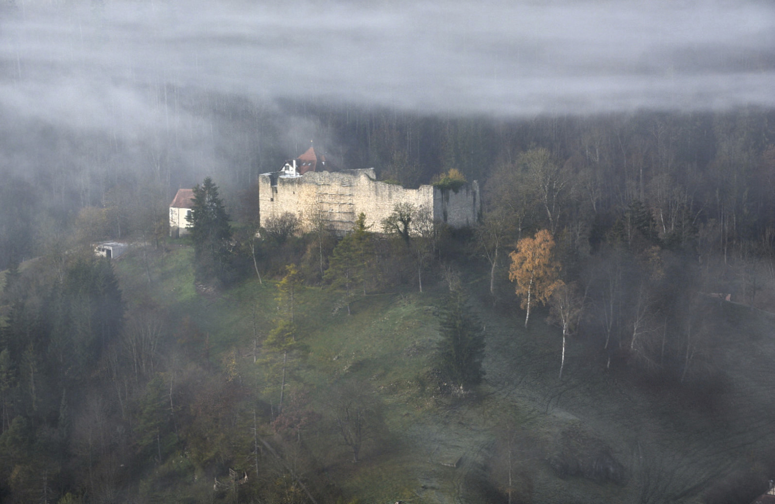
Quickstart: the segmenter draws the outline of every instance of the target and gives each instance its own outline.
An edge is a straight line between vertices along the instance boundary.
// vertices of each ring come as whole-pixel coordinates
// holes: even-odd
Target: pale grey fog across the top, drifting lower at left
[[[519,119],[772,107],[773,88],[769,1],[0,0],[0,171],[79,205],[126,171],[173,194],[244,184],[312,136],[336,150],[288,98]],[[286,140],[269,152],[271,119],[212,99]]]

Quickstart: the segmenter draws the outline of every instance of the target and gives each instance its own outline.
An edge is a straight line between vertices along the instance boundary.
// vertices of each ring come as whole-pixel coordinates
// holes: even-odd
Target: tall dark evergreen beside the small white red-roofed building
[[[194,241],[196,279],[206,283],[226,283],[229,274],[229,241],[232,228],[229,214],[212,178],[194,188],[194,205],[186,216]]]

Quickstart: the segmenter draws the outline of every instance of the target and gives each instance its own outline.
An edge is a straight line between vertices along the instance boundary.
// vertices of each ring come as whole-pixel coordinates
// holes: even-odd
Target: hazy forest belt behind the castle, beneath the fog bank
[[[157,95],[160,108],[169,103],[165,97],[174,99],[174,110],[160,109],[169,126],[153,138],[120,128],[85,135],[29,121],[0,126],[6,153],[0,159],[6,174],[0,268],[12,256],[40,255],[47,236],[85,208],[101,211],[98,234],[129,236],[139,227],[138,212],[164,215],[178,188],[206,176],[237,215],[239,192],[303,152],[311,139],[332,167],[375,167],[381,179],[410,187],[450,168],[487,183],[540,147],[580,175],[574,200],[592,222],[611,225],[615,212],[637,199],[653,210],[664,233],[680,226],[686,209],[692,222],[712,219],[720,226],[718,240],[728,252],[741,238],[759,240],[775,218],[767,197],[775,162],[768,110],[443,118],[322,102],[270,107],[170,86],[147,92]],[[212,127],[192,123],[193,117]]]

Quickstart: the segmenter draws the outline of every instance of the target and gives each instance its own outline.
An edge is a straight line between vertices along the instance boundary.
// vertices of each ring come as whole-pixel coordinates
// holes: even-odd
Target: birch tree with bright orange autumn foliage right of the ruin
[[[530,319],[530,307],[539,302],[546,305],[549,296],[562,283],[560,263],[552,254],[554,239],[547,230],[540,230],[532,238],[517,242],[517,250],[509,254],[512,265],[508,279],[516,283],[516,295],[522,300],[522,309],[527,310],[525,327]]]

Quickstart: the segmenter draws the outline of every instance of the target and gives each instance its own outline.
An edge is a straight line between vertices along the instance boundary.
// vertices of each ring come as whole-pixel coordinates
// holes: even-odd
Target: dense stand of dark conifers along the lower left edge
[[[95,378],[110,373],[125,306],[111,265],[88,250],[12,265],[2,309],[0,499],[50,501],[93,476],[84,461],[111,435]]]

